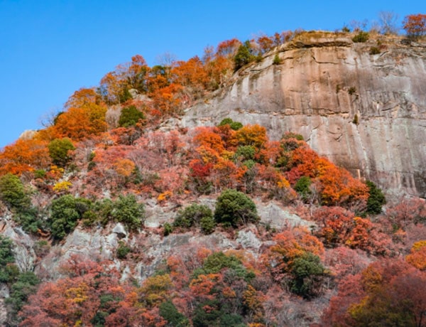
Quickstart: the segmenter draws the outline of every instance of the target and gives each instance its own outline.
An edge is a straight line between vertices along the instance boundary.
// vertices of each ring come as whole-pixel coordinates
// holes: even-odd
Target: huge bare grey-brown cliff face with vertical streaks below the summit
[[[354,176],[426,197],[426,44],[383,42],[381,53],[370,55],[376,41],[308,33],[188,108],[180,124],[231,117],[263,125],[272,139],[296,132]],[[272,64],[275,53],[280,65]]]

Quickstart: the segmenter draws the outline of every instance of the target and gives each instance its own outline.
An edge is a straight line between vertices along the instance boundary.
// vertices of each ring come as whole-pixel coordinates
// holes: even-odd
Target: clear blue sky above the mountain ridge
[[[166,52],[187,60],[229,38],[334,31],[353,20],[377,20],[380,11],[401,21],[425,14],[426,2],[0,0],[0,147],[39,129],[43,115],[132,55],[150,66]]]

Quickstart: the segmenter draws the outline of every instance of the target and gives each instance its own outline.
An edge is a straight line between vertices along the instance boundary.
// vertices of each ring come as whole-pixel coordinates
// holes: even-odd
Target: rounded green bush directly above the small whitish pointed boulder
[[[129,230],[137,230],[143,225],[145,210],[142,203],[136,202],[135,195],[119,195],[114,202],[111,217],[119,223],[124,223]]]

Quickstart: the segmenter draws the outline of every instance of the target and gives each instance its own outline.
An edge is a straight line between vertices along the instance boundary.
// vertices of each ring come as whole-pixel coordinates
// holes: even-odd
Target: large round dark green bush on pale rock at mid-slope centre
[[[256,205],[247,195],[227,189],[217,198],[214,220],[217,223],[229,223],[232,227],[238,227],[247,223],[257,223],[260,218],[257,215]]]

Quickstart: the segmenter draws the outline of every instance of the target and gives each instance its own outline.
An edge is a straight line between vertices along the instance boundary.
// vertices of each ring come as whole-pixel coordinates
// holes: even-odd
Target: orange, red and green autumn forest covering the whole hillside
[[[425,14],[403,24],[398,37],[424,38]],[[334,33],[365,42],[391,27]],[[297,131],[273,140],[229,117],[175,124],[304,33],[231,39],[153,67],[134,55],[1,149],[5,326],[426,326],[425,199],[386,198]],[[297,223],[264,218],[269,204]],[[153,225],[152,208],[167,219]],[[31,240],[33,264],[8,226]],[[61,252],[76,231],[117,226],[109,255]]]

